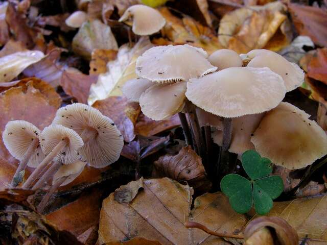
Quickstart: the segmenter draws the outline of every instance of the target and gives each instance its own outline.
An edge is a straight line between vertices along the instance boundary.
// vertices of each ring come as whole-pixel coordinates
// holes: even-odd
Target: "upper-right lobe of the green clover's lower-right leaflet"
[[[284,190],[284,183],[281,177],[274,175],[256,180],[255,184],[264,190],[271,199],[278,198]]]

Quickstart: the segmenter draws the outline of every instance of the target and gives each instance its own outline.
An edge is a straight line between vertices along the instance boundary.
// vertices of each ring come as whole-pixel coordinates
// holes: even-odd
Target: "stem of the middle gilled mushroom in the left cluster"
[[[22,188],[29,189],[32,186],[34,181],[41,174],[43,168],[48,165],[60,153],[60,151],[67,145],[68,140],[68,138],[64,138],[55,146],[55,148],[48,154],[48,156],[46,156],[43,161],[37,166],[37,168],[35,168],[35,170],[26,180],[24,185],[22,185]]]

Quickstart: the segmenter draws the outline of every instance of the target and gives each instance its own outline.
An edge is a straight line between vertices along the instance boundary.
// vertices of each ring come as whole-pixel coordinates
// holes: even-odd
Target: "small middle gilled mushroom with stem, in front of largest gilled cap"
[[[80,158],[78,150],[83,146],[82,138],[72,129],[61,125],[45,127],[40,134],[41,148],[46,157],[26,180],[22,188],[30,188],[51,161],[73,163]]]

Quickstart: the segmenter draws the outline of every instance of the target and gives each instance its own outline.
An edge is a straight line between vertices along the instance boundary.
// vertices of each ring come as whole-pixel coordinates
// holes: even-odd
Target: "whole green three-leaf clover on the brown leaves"
[[[236,212],[246,213],[254,203],[256,213],[264,215],[272,208],[272,200],[283,192],[283,180],[279,176],[269,176],[271,161],[253,150],[243,153],[242,166],[251,180],[229,174],[221,180],[221,190],[229,197],[229,203]]]

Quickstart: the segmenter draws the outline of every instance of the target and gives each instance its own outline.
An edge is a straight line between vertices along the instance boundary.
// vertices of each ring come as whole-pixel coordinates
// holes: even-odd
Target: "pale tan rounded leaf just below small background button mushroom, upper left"
[[[103,50],[118,50],[118,44],[111,29],[98,19],[83,23],[73,39],[73,51],[90,60],[91,53],[95,48]]]

